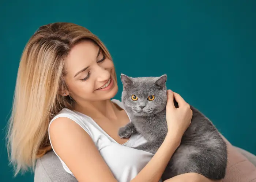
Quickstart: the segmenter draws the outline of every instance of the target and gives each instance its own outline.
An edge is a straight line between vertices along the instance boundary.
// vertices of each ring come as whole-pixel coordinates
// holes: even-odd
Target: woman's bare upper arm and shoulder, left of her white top
[[[90,135],[72,119],[59,117],[49,126],[54,151],[78,181],[116,182]]]

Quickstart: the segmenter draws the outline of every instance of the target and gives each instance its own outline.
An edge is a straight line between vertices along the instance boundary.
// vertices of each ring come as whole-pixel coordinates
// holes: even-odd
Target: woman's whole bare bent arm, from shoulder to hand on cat
[[[175,94],[174,94],[175,96]],[[164,142],[150,162],[132,179],[132,182],[158,182],[181,137],[192,118],[192,111],[179,95],[175,97],[179,108],[173,105],[173,94],[168,93],[166,116],[168,132]],[[87,132],[69,118],[60,117],[50,125],[51,142],[55,152],[65,162],[79,182],[116,182],[108,165]]]

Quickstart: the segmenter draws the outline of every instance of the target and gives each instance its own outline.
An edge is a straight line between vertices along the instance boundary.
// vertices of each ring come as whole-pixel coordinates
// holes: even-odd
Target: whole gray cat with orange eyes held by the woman
[[[155,154],[167,134],[166,75],[161,77],[131,78],[121,74],[122,102],[131,122],[118,131],[120,138],[133,133],[142,134],[147,143],[134,147]],[[174,99],[177,108],[178,103]],[[226,174],[226,143],[212,122],[191,107],[191,124],[185,131],[180,146],[170,159],[162,179],[194,172],[210,179],[223,179]]]

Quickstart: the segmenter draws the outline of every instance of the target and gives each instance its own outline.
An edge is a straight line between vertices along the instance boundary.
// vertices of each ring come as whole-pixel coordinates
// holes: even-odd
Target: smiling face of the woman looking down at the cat
[[[106,58],[93,41],[76,44],[66,59],[66,92],[76,102],[100,101],[113,98],[118,87],[113,62]]]

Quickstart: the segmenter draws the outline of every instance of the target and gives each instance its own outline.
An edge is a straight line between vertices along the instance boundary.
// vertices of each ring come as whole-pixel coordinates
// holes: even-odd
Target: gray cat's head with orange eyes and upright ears
[[[121,74],[125,110],[135,116],[150,116],[164,110],[167,102],[166,79],[166,75],[132,78]]]

